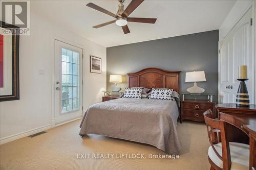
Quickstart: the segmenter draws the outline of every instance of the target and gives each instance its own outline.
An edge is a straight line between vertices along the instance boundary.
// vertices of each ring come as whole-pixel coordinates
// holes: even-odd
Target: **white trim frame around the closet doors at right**
[[[234,22],[233,23],[233,26],[232,27],[230,27],[230,29],[229,29],[229,31],[227,32],[227,34],[234,28],[234,26],[236,26],[237,25],[237,23],[240,21],[240,19],[245,15],[245,13],[251,8],[252,9],[252,56],[254,56],[254,57],[252,57],[252,68],[254,68],[254,72],[256,71],[256,68],[255,68],[255,66],[256,66],[256,52],[255,52],[255,44],[256,44],[256,37],[255,37],[255,35],[256,35],[256,27],[255,27],[255,15],[256,15],[256,11],[255,11],[255,7],[256,6],[256,3],[255,3],[255,1],[252,1],[251,3],[250,3],[250,5],[248,5],[248,7],[246,8],[246,10],[244,10],[242,13],[241,13],[241,15],[236,19],[236,22]],[[254,30],[254,31],[253,31]],[[226,34],[226,35],[227,35]],[[225,37],[226,37],[226,35],[225,35]],[[223,37],[223,39],[225,38],[225,37]],[[222,39],[222,40],[223,40]],[[220,94],[220,40],[218,41],[218,103],[220,103],[220,99],[221,99],[221,94]],[[253,99],[254,99],[254,104],[256,104],[256,87],[255,87],[255,85],[256,85],[256,74],[254,74],[254,82],[253,82],[253,86],[254,86],[254,89],[253,89],[253,91],[254,91],[254,94],[253,94],[253,96],[251,96],[250,94],[250,98],[252,98],[253,97]]]

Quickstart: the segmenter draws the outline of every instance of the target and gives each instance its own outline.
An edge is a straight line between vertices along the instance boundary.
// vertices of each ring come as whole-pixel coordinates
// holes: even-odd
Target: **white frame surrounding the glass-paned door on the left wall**
[[[52,91],[51,91],[51,124],[52,124],[52,128],[53,127],[56,127],[56,126],[60,126],[60,125],[63,125],[63,124],[66,124],[66,123],[69,123],[69,122],[72,122],[76,119],[79,119],[81,117],[78,117],[78,118],[74,118],[72,120],[67,120],[66,122],[63,122],[63,123],[60,123],[60,124],[57,124],[56,125],[56,122],[55,122],[55,40],[58,40],[58,41],[61,41],[63,43],[67,43],[67,44],[70,44],[70,45],[73,45],[75,47],[78,47],[78,48],[81,48],[82,49],[82,64],[81,64],[81,67],[82,67],[82,108],[83,108],[83,90],[84,90],[84,83],[83,83],[83,76],[84,76],[84,64],[83,64],[83,56],[84,56],[84,53],[85,53],[85,48],[83,45],[79,44],[79,43],[76,43],[74,41],[70,41],[68,39],[65,39],[65,38],[62,38],[62,37],[59,37],[59,36],[53,36],[54,38],[52,39],[52,44],[53,44],[53,48],[52,48],[52,54],[53,54],[53,57],[52,57],[52,63],[53,63],[53,69],[52,69]],[[83,109],[82,109],[82,112],[83,112]],[[83,113],[82,113],[83,115]]]

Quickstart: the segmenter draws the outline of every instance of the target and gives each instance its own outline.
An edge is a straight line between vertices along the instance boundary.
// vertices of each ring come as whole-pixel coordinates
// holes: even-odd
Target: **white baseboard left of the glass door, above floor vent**
[[[45,131],[45,130],[48,130],[48,129],[51,129],[51,128],[52,128],[52,125],[50,124],[50,125],[42,126],[42,127],[39,127],[39,128],[31,129],[31,130],[28,130],[28,131],[25,131],[25,132],[17,133],[15,135],[3,137],[3,138],[0,139],[0,144],[4,144],[4,143],[7,143],[7,142],[10,142],[10,141],[19,139],[19,138],[23,138],[23,137],[26,137],[26,136],[29,136],[29,135],[33,135],[35,133]]]

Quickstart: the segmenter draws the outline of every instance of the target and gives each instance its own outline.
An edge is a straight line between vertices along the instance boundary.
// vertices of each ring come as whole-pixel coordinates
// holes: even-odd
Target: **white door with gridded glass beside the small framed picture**
[[[55,123],[82,116],[82,49],[55,40]]]

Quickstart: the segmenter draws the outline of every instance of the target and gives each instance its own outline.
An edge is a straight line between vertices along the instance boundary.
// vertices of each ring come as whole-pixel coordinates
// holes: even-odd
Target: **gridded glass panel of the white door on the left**
[[[62,48],[61,109],[63,112],[78,110],[79,95],[79,53]]]

